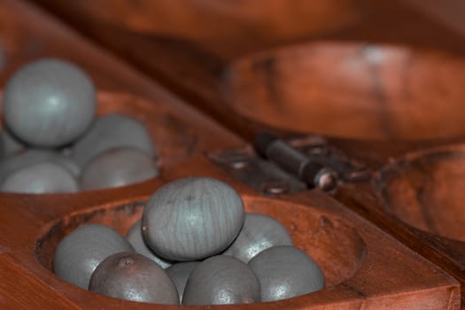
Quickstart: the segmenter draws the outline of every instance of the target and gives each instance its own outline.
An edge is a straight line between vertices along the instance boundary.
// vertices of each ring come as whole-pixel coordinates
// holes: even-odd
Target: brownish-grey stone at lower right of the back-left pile
[[[81,190],[109,189],[147,181],[159,175],[150,156],[136,149],[105,151],[81,172]]]

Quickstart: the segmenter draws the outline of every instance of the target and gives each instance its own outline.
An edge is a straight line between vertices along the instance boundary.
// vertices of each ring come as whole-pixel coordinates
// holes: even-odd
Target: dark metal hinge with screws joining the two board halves
[[[318,187],[335,190],[339,182],[366,182],[371,174],[345,157],[322,136],[286,140],[262,133],[254,145],[206,154],[236,179],[267,196]]]

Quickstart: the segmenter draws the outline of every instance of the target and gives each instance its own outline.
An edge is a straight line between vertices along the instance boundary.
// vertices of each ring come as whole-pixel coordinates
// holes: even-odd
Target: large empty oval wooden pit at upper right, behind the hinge
[[[307,43],[233,62],[222,96],[267,126],[356,139],[465,135],[465,59],[365,43]]]

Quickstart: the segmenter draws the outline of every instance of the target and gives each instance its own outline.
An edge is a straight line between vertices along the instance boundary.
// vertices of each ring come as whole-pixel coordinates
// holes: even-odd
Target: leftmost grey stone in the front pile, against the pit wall
[[[118,231],[100,224],[81,226],[58,244],[53,270],[66,282],[87,290],[98,264],[118,252],[133,252],[131,244]]]

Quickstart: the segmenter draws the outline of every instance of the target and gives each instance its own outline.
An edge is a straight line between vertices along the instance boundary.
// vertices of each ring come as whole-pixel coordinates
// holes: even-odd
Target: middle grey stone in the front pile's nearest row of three
[[[250,267],[231,256],[202,261],[190,275],[182,305],[250,304],[260,301],[260,283]]]

